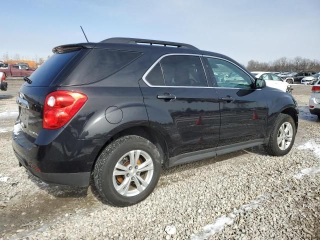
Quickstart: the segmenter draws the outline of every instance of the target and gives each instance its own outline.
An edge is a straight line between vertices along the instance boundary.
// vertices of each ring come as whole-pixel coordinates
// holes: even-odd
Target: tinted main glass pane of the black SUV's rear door
[[[172,55],[161,59],[167,86],[207,86],[199,56]]]

